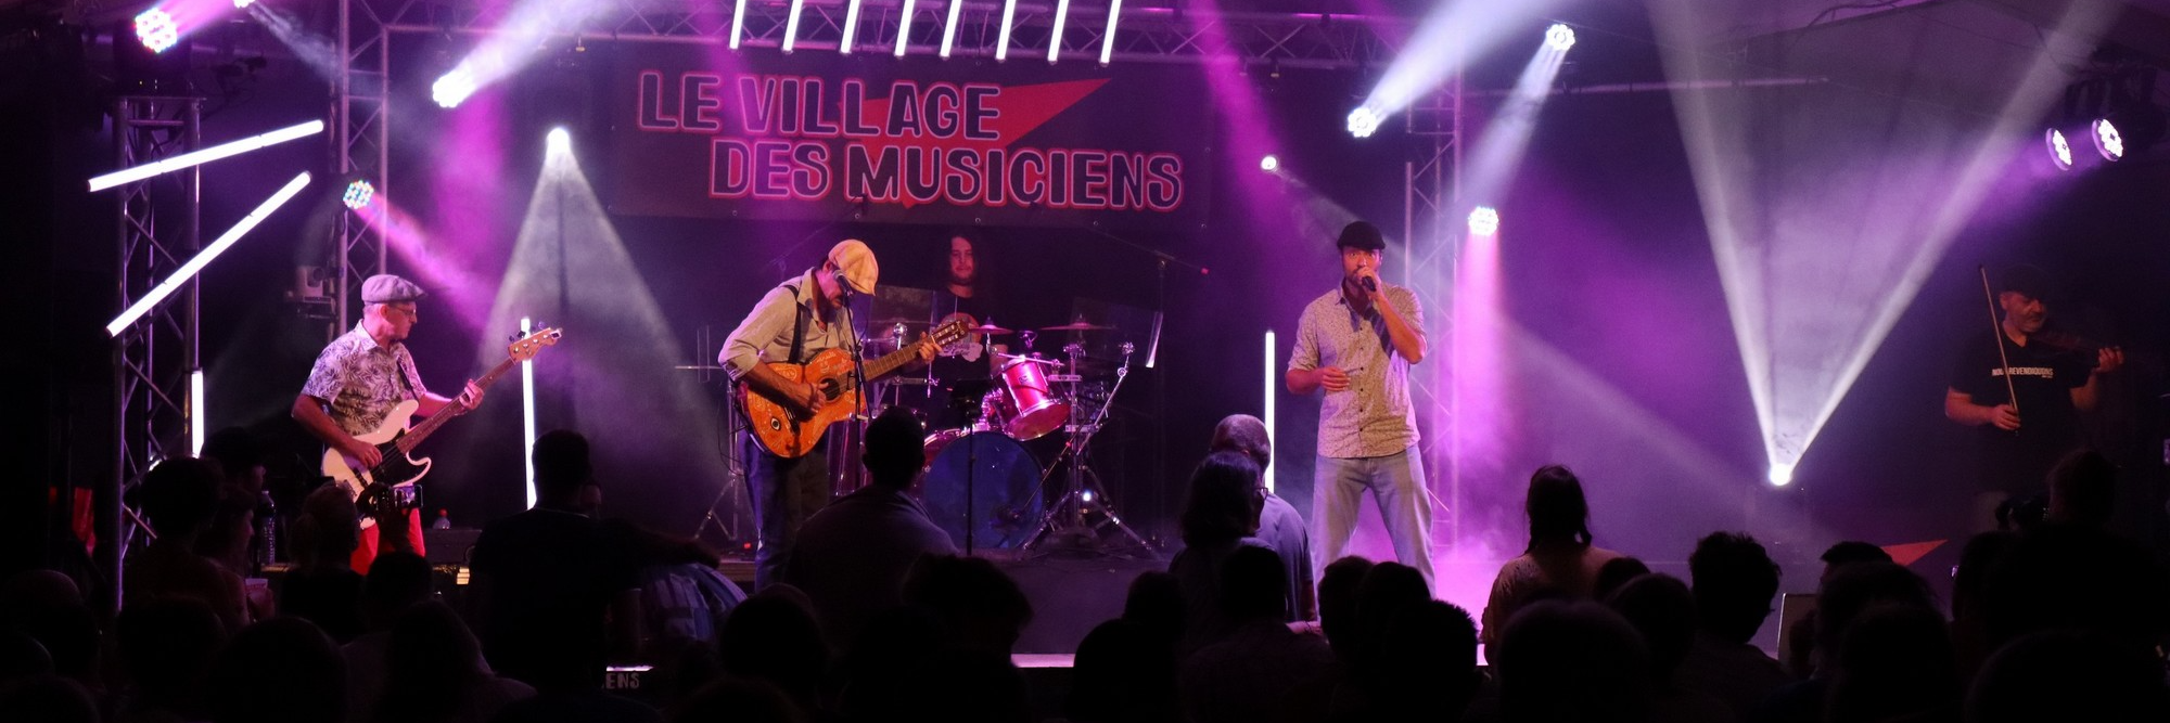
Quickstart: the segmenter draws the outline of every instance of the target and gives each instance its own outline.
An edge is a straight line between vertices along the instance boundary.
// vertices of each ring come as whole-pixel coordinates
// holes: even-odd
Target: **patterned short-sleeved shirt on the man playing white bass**
[[[404,383],[401,383],[404,379]],[[430,387],[421,385],[414,372],[414,357],[406,344],[378,346],[362,325],[354,325],[323,346],[317,366],[308,370],[302,394],[332,405],[332,422],[349,435],[365,435],[384,424],[393,405],[406,398],[421,398]]]

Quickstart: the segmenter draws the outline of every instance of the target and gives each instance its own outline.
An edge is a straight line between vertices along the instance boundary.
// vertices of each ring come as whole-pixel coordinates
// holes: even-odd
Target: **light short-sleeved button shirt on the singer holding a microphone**
[[[1384,281],[1382,281],[1384,284]],[[1402,320],[1424,338],[1424,307],[1408,288],[1384,284]],[[1341,288],[1313,299],[1295,327],[1289,370],[1339,366],[1350,387],[1326,392],[1319,405],[1319,457],[1387,457],[1417,444],[1417,407],[1408,403],[1408,359],[1393,351],[1387,316],[1374,305],[1356,314]]]

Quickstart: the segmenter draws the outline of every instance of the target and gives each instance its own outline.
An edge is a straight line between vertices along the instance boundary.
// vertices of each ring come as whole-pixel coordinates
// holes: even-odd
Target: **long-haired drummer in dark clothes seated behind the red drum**
[[[942,288],[935,290],[933,316],[937,323],[963,316],[968,325],[983,327],[992,325],[994,318],[994,294],[992,284],[981,281],[979,266],[979,236],[970,229],[955,229],[948,234],[948,277]],[[929,431],[933,429],[957,429],[966,426],[966,413],[959,405],[950,403],[950,390],[972,387],[985,390],[996,353],[1003,353],[1003,344],[994,344],[996,333],[972,333],[957,344],[942,349],[942,355],[933,362],[935,387],[929,400],[927,420]],[[976,396],[974,396],[976,398]]]

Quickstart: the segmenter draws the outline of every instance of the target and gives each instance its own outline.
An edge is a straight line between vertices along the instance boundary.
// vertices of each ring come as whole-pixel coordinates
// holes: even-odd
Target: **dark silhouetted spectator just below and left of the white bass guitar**
[[[295,565],[280,578],[278,608],[323,628],[332,641],[362,634],[362,576],[354,571],[354,498],[336,485],[317,487],[302,500],[293,524]]]

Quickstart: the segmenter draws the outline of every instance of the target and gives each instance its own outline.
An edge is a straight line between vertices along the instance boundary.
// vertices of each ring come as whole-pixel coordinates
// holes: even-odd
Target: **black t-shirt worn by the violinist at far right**
[[[2083,353],[2042,342],[2027,346],[2005,340],[2012,370],[2012,392],[2018,394],[2020,429],[2016,433],[1981,424],[1975,435],[1981,446],[1983,489],[2009,494],[2044,491],[2044,476],[2057,459],[2079,448],[2079,409],[2072,390],[2088,383],[2094,370]],[[1962,346],[1951,368],[1951,387],[1966,392],[1977,405],[2003,405],[2005,359],[1996,355],[1996,336],[1977,333]]]

